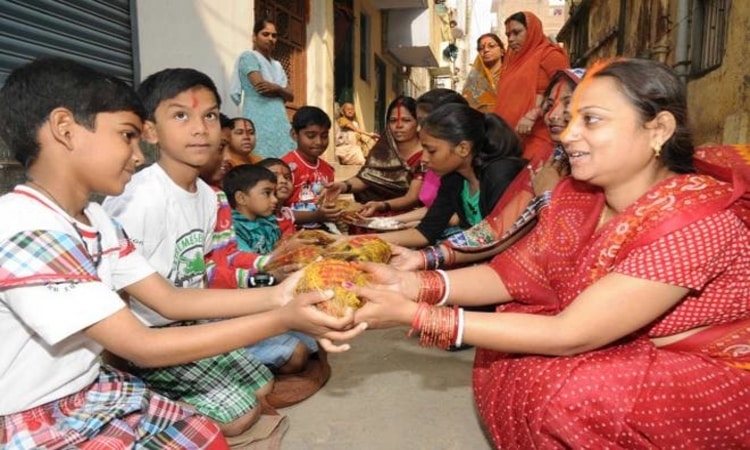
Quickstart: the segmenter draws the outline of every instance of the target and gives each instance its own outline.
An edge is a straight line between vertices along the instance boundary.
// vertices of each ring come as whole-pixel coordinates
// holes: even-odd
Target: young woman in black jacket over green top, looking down
[[[416,228],[379,235],[407,247],[436,243],[453,214],[463,228],[477,224],[526,165],[516,134],[494,114],[447,104],[421,127],[422,161],[441,176],[437,197]]]

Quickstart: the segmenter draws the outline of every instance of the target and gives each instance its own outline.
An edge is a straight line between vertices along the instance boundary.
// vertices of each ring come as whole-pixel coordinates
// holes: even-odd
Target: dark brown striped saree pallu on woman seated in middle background
[[[354,194],[359,203],[402,197],[415,178],[422,177],[422,152],[404,161],[398,154],[390,133],[384,133],[367,155],[365,165],[357,173],[367,189]]]

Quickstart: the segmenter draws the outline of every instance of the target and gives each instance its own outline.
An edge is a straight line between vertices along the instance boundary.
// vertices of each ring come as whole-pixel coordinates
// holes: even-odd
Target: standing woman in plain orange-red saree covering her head
[[[549,158],[554,146],[542,120],[543,93],[552,75],[570,63],[563,49],[544,35],[542,21],[528,11],[508,17],[505,34],[508,53],[497,83],[495,114],[521,136],[524,157],[536,167]]]

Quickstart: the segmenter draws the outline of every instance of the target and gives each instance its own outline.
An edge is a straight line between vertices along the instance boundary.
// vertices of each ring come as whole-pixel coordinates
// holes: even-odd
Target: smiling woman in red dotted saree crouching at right
[[[352,288],[356,320],[477,346],[498,448],[750,447],[747,185],[695,173],[685,87],[661,63],[593,68],[572,104],[572,178],[531,233],[449,273],[366,265],[388,289]]]

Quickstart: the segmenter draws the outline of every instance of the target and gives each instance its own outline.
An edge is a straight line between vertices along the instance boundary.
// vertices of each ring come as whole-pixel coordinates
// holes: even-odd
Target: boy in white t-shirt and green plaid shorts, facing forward
[[[144,138],[158,145],[159,159],[133,176],[121,195],[107,197],[103,206],[174,286],[201,288],[208,275],[204,258],[211,249],[217,199],[198,175],[220,143],[220,98],[213,81],[192,69],[153,74],[138,94],[147,112]],[[185,325],[149,308],[140,292],[130,300],[151,327]],[[257,305],[265,309],[262,302]],[[225,434],[248,428],[257,415],[257,397],[272,387],[270,371],[242,350],[166,368],[130,368],[152,389],[219,422]]]

